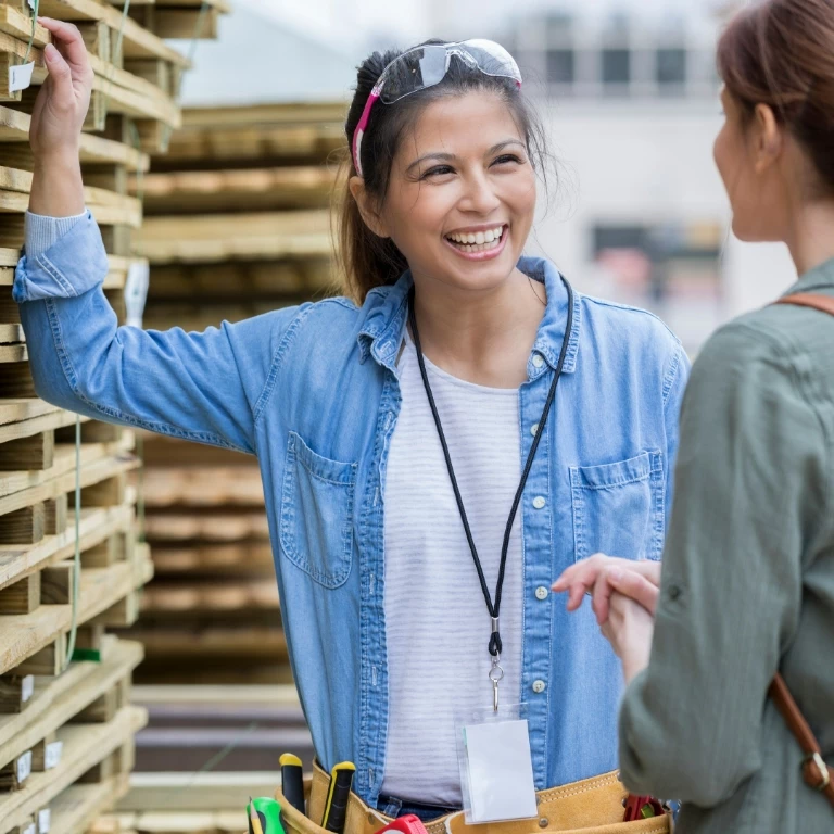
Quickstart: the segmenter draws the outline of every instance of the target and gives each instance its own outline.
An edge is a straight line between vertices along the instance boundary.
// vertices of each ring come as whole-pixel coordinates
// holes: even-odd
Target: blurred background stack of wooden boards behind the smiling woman
[[[146,324],[202,330],[323,296],[342,105],[186,110],[153,173],[135,179],[151,263]],[[256,462],[146,440],[156,579],[135,631],[152,683],[286,683]]]

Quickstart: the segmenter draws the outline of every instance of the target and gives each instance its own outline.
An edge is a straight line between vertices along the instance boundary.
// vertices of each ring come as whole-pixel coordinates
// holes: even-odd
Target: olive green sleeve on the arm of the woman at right
[[[626,785],[712,807],[760,768],[763,705],[797,624],[822,429],[780,344],[719,331],[692,371],[652,657],[620,711]]]

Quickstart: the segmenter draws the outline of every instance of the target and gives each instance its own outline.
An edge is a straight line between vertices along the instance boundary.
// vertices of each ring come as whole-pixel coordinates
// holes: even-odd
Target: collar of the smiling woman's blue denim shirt
[[[547,366],[555,368],[559,362],[565,326],[568,319],[568,292],[558,269],[542,257],[522,257],[518,268],[540,283],[547,292],[547,306],[539,325],[539,332],[528,361],[528,377],[533,380]],[[408,292],[412,274],[406,270],[390,287],[379,287],[368,293],[363,309],[365,321],[358,333],[359,362],[372,356],[380,365],[393,370],[408,315]],[[572,374],[577,368],[581,320],[581,295],[573,290],[573,321],[568,337],[563,372]],[[536,357],[541,356],[544,362]]]

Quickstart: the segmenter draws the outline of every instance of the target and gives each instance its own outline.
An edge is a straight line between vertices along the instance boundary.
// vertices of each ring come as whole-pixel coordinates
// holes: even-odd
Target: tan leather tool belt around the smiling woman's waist
[[[313,776],[305,780],[307,816],[293,808],[281,789],[275,798],[281,806],[281,822],[287,834],[327,834],[319,822],[325,813],[325,801],[330,776],[317,764]],[[654,817],[636,822],[622,822],[623,801],[628,792],[617,779],[617,773],[605,773],[570,785],[553,787],[536,794],[539,816],[533,820],[489,822],[467,825],[464,812],[439,817],[425,823],[429,834],[670,834],[671,817]],[[369,808],[356,794],[351,793],[344,834],[376,834],[391,822],[374,808]]]

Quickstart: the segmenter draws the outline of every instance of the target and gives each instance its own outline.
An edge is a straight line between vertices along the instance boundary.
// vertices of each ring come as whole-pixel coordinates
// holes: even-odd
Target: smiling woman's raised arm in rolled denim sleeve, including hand
[[[84,211],[78,148],[92,72],[75,26],[41,23],[56,46],[46,50],[50,76],[33,114],[29,208],[71,228],[45,251],[33,247],[15,271],[36,393],[99,419],[254,452],[271,359],[296,308],[202,333],[118,327],[102,291],[108,256]]]

